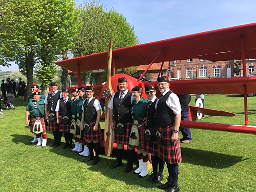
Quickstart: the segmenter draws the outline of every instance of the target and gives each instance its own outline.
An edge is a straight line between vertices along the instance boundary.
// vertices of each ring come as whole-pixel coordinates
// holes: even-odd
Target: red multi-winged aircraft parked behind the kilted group
[[[138,81],[140,81],[152,63],[162,62],[163,66],[164,61],[186,60],[189,58],[205,59],[213,62],[235,59],[243,60],[243,69],[246,69],[245,58],[256,58],[255,34],[256,23],[244,24],[193,35],[180,36],[151,43],[129,46],[125,48],[118,48],[114,49],[112,52],[106,51],[92,55],[86,55],[83,57],[59,61],[56,62],[56,64],[73,72],[77,72],[78,84],[81,85],[80,72],[106,68],[108,58],[108,81],[105,85],[96,85],[96,88],[98,89],[98,96],[104,98],[103,91],[106,89],[106,87],[111,90],[110,80],[112,82],[113,90],[117,91],[116,87],[118,84],[118,77],[126,76],[129,82],[128,89],[131,90],[132,87],[138,84]],[[109,56],[108,53],[110,54]],[[125,67],[139,66],[143,64],[148,64],[148,68],[140,76],[139,79],[135,79],[126,74],[115,74],[115,70],[114,75],[110,78],[111,64],[113,66],[113,70],[115,68],[123,69]],[[159,71],[159,74],[160,72],[161,70]],[[247,116],[247,93],[255,93],[256,77],[247,77],[246,70],[243,70],[243,76],[244,77],[242,78],[170,81],[170,89],[176,94],[244,94],[244,125],[195,122],[194,120],[196,119],[196,112],[217,116],[233,116],[234,114],[225,111],[205,108],[202,109],[190,106],[191,121],[182,121],[181,126],[197,129],[246,132],[256,134],[256,126],[248,125]],[[157,82],[142,83],[146,85],[157,85]],[[208,86],[209,84],[211,86]],[[110,95],[111,93],[112,92],[110,91]],[[146,97],[146,95],[144,95],[144,97]],[[105,129],[107,127],[108,126],[105,124]],[[105,131],[105,133],[109,134],[108,131]],[[107,138],[108,136],[105,135],[105,142]],[[110,155],[108,153],[105,154],[108,156]]]

